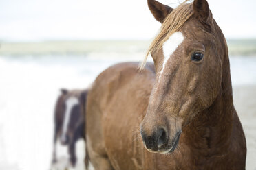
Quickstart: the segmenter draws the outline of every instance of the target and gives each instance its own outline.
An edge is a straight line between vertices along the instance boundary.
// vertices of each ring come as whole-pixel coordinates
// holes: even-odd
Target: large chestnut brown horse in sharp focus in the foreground
[[[87,151],[96,170],[245,169],[228,47],[206,0],[172,9],[148,0],[162,23],[154,64],[111,66],[87,98]],[[141,136],[140,136],[141,134]]]

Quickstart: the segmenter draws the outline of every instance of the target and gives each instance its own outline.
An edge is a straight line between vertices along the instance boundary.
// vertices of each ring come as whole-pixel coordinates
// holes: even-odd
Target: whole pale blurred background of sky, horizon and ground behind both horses
[[[255,170],[256,1],[208,2],[228,39],[246,169]],[[59,88],[86,88],[111,64],[142,61],[159,27],[146,0],[1,0],[0,169],[50,169]],[[77,169],[83,151],[80,141]],[[58,154],[65,162],[65,148]]]

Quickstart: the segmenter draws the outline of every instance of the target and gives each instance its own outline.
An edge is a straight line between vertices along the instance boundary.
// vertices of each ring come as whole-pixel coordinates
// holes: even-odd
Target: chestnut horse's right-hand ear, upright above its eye
[[[206,0],[195,0],[193,2],[194,16],[204,25],[209,28],[209,18],[211,15],[208,2]]]

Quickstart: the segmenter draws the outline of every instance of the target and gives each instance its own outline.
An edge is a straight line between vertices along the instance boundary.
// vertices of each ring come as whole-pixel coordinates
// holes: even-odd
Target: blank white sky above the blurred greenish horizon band
[[[173,6],[178,0],[160,2]],[[256,38],[255,0],[208,2],[226,38]],[[1,42],[149,40],[159,28],[147,0],[0,1]]]

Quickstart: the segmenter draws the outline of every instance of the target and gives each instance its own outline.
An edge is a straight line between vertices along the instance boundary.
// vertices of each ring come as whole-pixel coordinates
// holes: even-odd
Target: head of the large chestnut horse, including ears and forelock
[[[148,51],[156,82],[140,132],[147,150],[164,154],[174,151],[182,128],[220,93],[228,50],[206,0],[175,9],[154,0],[148,5],[162,27]],[[231,81],[228,76],[224,81]]]

